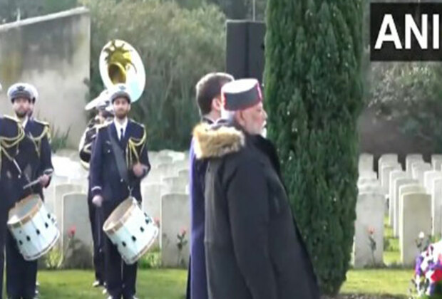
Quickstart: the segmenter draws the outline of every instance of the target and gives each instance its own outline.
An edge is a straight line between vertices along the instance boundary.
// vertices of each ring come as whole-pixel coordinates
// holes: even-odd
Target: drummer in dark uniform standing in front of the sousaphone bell
[[[128,119],[130,94],[124,84],[113,88],[115,117],[98,129],[91,158],[93,204],[102,206],[103,219],[130,195],[141,203],[140,182],[150,170],[145,128]],[[107,236],[105,268],[109,299],[135,298],[137,264],[125,264]]]

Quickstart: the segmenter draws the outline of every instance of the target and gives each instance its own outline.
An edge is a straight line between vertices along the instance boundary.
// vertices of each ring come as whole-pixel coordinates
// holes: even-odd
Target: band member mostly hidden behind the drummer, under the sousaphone
[[[104,249],[103,249],[103,215],[101,214],[100,208],[92,203],[92,193],[91,193],[91,169],[89,163],[92,154],[92,144],[96,139],[98,132],[98,127],[103,125],[104,122],[111,121],[113,119],[113,107],[108,100],[104,98],[106,93],[101,93],[96,105],[97,115],[93,117],[88,123],[83,137],[81,137],[80,142],[80,159],[86,168],[89,168],[88,175],[88,209],[89,209],[89,221],[91,221],[91,230],[93,238],[93,266],[95,268],[95,281],[92,286],[97,288],[99,286],[105,285],[104,279]]]

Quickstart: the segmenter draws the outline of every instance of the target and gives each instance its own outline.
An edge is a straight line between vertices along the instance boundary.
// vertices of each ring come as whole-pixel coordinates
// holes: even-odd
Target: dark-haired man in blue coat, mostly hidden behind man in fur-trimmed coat
[[[212,124],[221,117],[221,88],[233,80],[227,73],[208,73],[196,85],[197,105],[202,122]],[[190,157],[190,263],[187,299],[207,299],[204,254],[204,176],[207,163],[195,159],[192,140]]]

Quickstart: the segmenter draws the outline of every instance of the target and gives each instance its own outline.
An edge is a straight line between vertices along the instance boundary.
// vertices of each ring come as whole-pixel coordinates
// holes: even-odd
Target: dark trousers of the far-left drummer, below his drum
[[[17,242],[6,232],[6,293],[9,298],[34,298],[37,261],[25,261]]]

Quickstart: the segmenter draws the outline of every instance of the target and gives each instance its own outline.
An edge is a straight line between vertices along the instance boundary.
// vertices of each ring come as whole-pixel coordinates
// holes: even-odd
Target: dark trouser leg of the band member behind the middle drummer
[[[104,233],[103,233],[103,214],[101,209],[92,203],[92,198],[88,196],[89,221],[91,221],[91,230],[93,238],[93,267],[95,268],[95,279],[101,284],[104,279]]]

